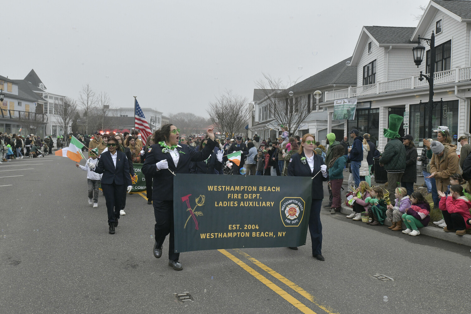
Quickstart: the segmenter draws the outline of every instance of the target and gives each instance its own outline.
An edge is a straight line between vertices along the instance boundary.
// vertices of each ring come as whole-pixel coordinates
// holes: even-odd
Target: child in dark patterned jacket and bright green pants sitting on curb
[[[402,215],[402,221],[407,229],[402,233],[409,235],[419,235],[418,228],[422,228],[429,224],[430,221],[430,204],[425,201],[420,192],[411,194],[411,202],[413,205],[407,209],[406,213]]]

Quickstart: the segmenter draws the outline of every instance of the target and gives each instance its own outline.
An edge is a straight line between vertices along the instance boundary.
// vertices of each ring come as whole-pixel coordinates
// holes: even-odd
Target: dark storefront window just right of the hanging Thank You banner
[[[355,113],[355,120],[348,120],[347,123],[348,132],[352,129],[357,129],[360,136],[365,133],[370,134],[370,140],[378,146],[378,136],[380,127],[380,110],[376,109],[357,109]],[[353,139],[349,137],[350,145],[353,144]]]

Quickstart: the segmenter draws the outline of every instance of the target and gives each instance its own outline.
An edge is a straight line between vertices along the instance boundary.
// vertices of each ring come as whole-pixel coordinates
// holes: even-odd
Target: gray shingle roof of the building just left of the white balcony
[[[293,85],[289,90],[293,93],[316,89],[329,84],[339,85],[357,85],[357,67],[347,66],[346,62],[350,61],[348,57],[333,66],[314,74],[304,81]]]

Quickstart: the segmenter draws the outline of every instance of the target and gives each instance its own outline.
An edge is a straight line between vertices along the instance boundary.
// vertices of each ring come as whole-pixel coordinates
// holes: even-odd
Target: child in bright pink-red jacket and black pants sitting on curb
[[[450,187],[451,195],[445,196],[445,193],[437,191],[440,197],[439,209],[445,219],[446,227],[443,228],[445,232],[456,232],[456,235],[466,234],[466,229],[471,228],[469,220],[471,202],[468,197],[464,195],[464,190],[461,185],[452,185]]]

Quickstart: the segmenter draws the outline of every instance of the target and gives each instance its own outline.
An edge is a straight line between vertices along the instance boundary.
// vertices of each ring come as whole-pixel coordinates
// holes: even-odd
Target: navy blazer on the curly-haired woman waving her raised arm
[[[195,149],[188,148],[188,145],[179,144],[177,150],[179,151],[179,161],[177,167],[173,162],[170,153],[162,153],[162,146],[154,144],[147,150],[146,160],[142,165],[142,173],[145,176],[152,176],[152,199],[160,201],[173,201],[173,174],[168,169],[157,170],[155,165],[157,162],[164,159],[169,163],[169,169],[175,174],[189,173],[191,161],[205,161],[212,150],[216,147],[217,143],[208,138],[208,143],[203,148],[203,151],[197,152]],[[150,150],[150,152],[149,152]]]

